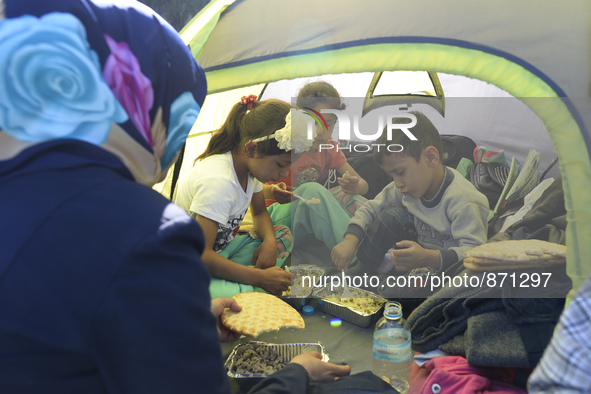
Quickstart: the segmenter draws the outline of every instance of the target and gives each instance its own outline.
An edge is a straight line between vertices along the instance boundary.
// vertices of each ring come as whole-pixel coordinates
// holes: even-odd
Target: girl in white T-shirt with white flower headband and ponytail
[[[202,259],[212,276],[212,298],[255,287],[277,295],[291,284],[290,274],[276,266],[284,259],[277,258],[278,241],[261,184],[287,176],[292,159],[291,145],[285,144],[290,123],[288,103],[243,97],[179,182],[175,202],[199,222],[205,234]],[[278,135],[288,138],[274,138]],[[256,242],[248,236],[235,238],[249,206],[260,237]],[[283,230],[277,229],[289,235]],[[288,252],[280,250],[279,257],[287,257]]]

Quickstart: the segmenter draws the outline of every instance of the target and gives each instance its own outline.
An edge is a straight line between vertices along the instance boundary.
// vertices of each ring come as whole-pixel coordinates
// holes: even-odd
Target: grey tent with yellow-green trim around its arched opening
[[[540,152],[539,177],[562,178],[567,273],[573,292],[580,286],[591,273],[589,3],[384,0],[363,11],[363,23],[353,5],[280,3],[212,1],[181,32],[206,71],[209,94],[182,159],[156,190],[171,197],[173,174],[191,168],[240,97],[292,102],[306,82],[324,80],[348,105],[362,106],[362,129],[375,132],[380,111],[412,109],[440,134],[470,137],[504,151],[508,161],[523,164],[530,149]],[[342,10],[338,18],[335,6]],[[452,12],[457,7],[462,12]],[[392,15],[421,15],[422,23],[410,17],[391,23]],[[242,25],[251,33],[235,34]],[[378,75],[381,84],[372,84]],[[260,339],[321,341],[332,360],[350,363],[353,372],[370,369],[371,329],[344,322],[334,335],[329,318],[316,313],[306,317],[303,332]],[[224,345],[225,354],[234,345]],[[362,352],[368,357],[352,356]]]

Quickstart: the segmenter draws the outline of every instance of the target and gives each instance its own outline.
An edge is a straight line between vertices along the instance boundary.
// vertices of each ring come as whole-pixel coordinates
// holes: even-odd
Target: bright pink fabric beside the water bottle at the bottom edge
[[[509,383],[510,378],[506,369],[474,367],[463,357],[437,357],[419,369],[408,393],[527,394],[524,389]]]

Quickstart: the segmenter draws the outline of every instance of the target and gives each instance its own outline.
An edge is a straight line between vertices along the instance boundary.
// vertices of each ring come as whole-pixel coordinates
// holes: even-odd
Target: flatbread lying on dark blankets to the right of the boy
[[[495,259],[512,262],[566,259],[566,246],[539,239],[508,240],[476,246],[464,257]]]

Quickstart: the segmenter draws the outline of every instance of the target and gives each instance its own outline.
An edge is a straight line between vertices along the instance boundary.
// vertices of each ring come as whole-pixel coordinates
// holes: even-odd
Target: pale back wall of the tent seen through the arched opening
[[[199,117],[196,127],[187,139],[181,176],[207,146],[211,137],[209,132],[221,126],[229,108],[233,103],[238,102],[241,96],[255,94],[260,100],[276,98],[291,103],[306,83],[327,81],[339,91],[347,107],[351,108],[360,106],[365,101],[374,74],[365,72],[280,80],[208,96],[202,110],[206,116]],[[445,107],[444,114],[441,114],[440,110],[434,108],[429,102],[416,102],[417,97],[435,95],[435,89],[427,72],[400,71],[384,74],[392,75],[389,86],[384,87],[383,92],[374,90],[373,96],[382,94],[386,100],[380,107],[372,108],[361,118],[362,133],[365,128],[372,131],[376,129],[376,116],[380,113],[397,111],[399,107],[397,103],[406,103],[412,106],[406,107],[408,110],[425,113],[440,134],[463,135],[473,139],[478,146],[504,150],[509,161],[511,157],[515,157],[519,163],[524,163],[529,149],[535,149],[541,153],[540,173],[549,169],[548,176],[559,176],[557,165],[549,168],[557,156],[548,131],[524,101],[487,82],[459,75],[437,73]],[[413,80],[409,75],[416,77]],[[425,83],[425,80],[428,83]],[[404,81],[406,86],[400,86],[400,81]],[[431,89],[432,93],[425,89]],[[332,138],[338,140],[338,127],[333,131]]]

